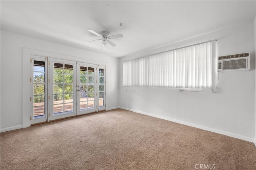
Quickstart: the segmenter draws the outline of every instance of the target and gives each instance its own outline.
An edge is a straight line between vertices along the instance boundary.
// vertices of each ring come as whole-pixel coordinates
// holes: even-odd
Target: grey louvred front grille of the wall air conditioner
[[[246,68],[247,68],[247,59],[246,58],[222,61],[222,70],[246,69]]]

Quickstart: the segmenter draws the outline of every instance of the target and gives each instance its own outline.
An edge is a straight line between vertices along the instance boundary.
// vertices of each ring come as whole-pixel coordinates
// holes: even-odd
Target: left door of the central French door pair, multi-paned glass
[[[76,115],[76,62],[49,59],[49,120]]]

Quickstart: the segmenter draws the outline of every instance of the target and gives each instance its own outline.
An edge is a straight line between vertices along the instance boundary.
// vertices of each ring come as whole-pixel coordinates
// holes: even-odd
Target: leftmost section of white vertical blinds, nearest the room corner
[[[124,61],[123,86],[147,86],[147,57]]]

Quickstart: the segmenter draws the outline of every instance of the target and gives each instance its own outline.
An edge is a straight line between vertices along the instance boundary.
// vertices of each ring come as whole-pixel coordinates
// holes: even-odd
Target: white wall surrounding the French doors
[[[24,84],[26,80],[22,77],[29,76],[25,74],[29,74],[30,56],[23,56],[24,48],[41,50],[42,53],[74,61],[106,63],[108,65],[107,107],[109,109],[118,107],[118,58],[1,30],[1,132],[29,126],[27,123],[29,114],[26,108],[29,108],[30,102],[29,99],[23,100],[23,96],[29,94],[29,88],[26,87],[26,83]],[[23,65],[23,61],[26,60],[28,63]],[[22,87],[22,84],[25,87]]]

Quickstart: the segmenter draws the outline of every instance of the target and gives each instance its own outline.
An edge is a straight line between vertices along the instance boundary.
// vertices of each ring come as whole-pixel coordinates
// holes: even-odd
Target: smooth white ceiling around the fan
[[[0,1],[1,29],[122,57],[253,20],[254,1]],[[122,26],[120,26],[122,23]],[[123,34],[102,47],[88,32]]]

